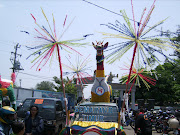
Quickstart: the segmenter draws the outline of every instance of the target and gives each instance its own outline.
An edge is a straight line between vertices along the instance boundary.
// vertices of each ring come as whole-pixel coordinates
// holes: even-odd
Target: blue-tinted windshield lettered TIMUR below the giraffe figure
[[[116,106],[83,105],[75,107],[77,121],[117,122],[118,109]]]

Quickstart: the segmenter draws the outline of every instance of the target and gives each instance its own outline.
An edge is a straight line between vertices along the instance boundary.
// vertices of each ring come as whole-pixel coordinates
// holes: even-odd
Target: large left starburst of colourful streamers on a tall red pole
[[[60,78],[62,80],[62,87],[63,87],[63,95],[64,95],[64,101],[65,101],[65,109],[66,109],[66,117],[68,116],[68,111],[67,111],[67,99],[66,99],[66,96],[65,96],[65,89],[64,89],[64,83],[63,83],[63,75],[62,75],[62,64],[61,64],[61,56],[60,56],[60,49],[64,49],[66,51],[71,50],[71,51],[74,51],[76,53],[79,53],[77,52],[75,49],[73,49],[71,46],[80,46],[80,45],[83,45],[84,43],[75,43],[75,41],[79,41],[79,40],[83,40],[84,38],[81,38],[81,39],[74,39],[74,40],[65,40],[63,41],[62,40],[62,37],[64,35],[64,33],[67,31],[67,29],[70,27],[70,25],[72,24],[72,22],[65,28],[66,26],[66,21],[67,21],[67,16],[64,20],[64,23],[63,23],[63,28],[65,28],[63,31],[62,31],[62,34],[60,35],[60,37],[58,37],[58,35],[56,34],[56,26],[55,26],[55,19],[54,19],[54,16],[52,14],[52,17],[53,17],[53,28],[51,28],[50,26],[50,23],[49,23],[49,20],[48,18],[46,17],[43,9],[41,8],[42,10],[42,13],[44,15],[44,18],[46,19],[46,22],[49,26],[49,30],[48,31],[48,28],[45,28],[45,26],[40,26],[36,20],[36,18],[34,17],[34,15],[31,14],[31,16],[33,17],[34,21],[35,21],[35,24],[37,26],[37,28],[34,28],[35,32],[36,32],[36,35],[34,38],[36,38],[37,40],[41,41],[41,44],[40,45],[36,45],[34,47],[28,47],[28,49],[35,49],[36,51],[34,53],[32,53],[30,56],[32,55],[38,55],[33,61],[35,62],[34,65],[36,65],[37,63],[38,66],[36,68],[36,70],[41,70],[43,66],[46,65],[46,63],[50,60],[52,60],[52,57],[54,55],[54,52],[56,51],[56,55],[58,56],[58,60],[59,60],[59,67],[60,67]],[[31,33],[30,32],[27,32],[27,31],[22,31],[22,32],[25,32],[26,34],[30,35]],[[36,42],[38,44],[38,42]],[[68,51],[69,52],[69,51]],[[29,57],[30,57],[29,56]],[[28,57],[28,58],[29,58]],[[33,65],[33,66],[34,66]],[[32,66],[32,67],[33,67]],[[41,66],[41,67],[40,67]],[[67,119],[68,120],[68,119]],[[67,122],[69,123],[69,122]]]

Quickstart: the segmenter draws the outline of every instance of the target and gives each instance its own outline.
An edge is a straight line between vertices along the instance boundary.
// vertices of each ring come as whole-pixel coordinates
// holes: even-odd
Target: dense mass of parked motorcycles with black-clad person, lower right
[[[127,111],[126,111],[127,112]],[[125,126],[130,125],[137,135],[152,135],[152,131],[157,133],[168,134],[169,132],[178,132],[179,134],[179,116],[180,111],[161,110],[148,111],[141,107],[138,110],[131,110],[131,113],[126,113]]]

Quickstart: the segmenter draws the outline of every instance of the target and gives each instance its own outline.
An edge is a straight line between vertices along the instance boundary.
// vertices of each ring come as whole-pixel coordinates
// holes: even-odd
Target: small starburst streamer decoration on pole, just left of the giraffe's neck
[[[84,100],[84,94],[83,94],[83,84],[88,83],[88,80],[92,80],[92,76],[89,75],[86,71],[90,70],[90,67],[87,67],[87,64],[90,62],[90,60],[88,59],[90,55],[88,55],[84,60],[79,60],[78,57],[78,61],[76,61],[76,64],[72,64],[71,61],[69,60],[70,58],[68,58],[67,60],[69,61],[69,65],[63,64],[63,66],[66,69],[71,70],[72,72],[63,72],[64,75],[70,75],[71,79],[69,81],[69,83],[76,79],[76,85],[80,85],[81,86],[81,91],[82,91],[82,99]]]

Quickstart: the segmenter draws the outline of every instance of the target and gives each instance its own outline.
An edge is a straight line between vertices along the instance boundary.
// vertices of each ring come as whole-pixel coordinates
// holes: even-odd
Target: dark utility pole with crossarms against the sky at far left
[[[11,54],[14,54],[14,58],[11,58],[10,61],[11,63],[13,64],[13,67],[11,68],[13,70],[13,73],[15,73],[16,71],[19,71],[19,70],[24,70],[23,68],[21,68],[21,63],[16,60],[17,59],[17,56],[20,56],[21,57],[21,54],[17,54],[17,49],[20,48],[21,46],[18,44],[16,44],[15,46],[15,52],[11,52]]]

